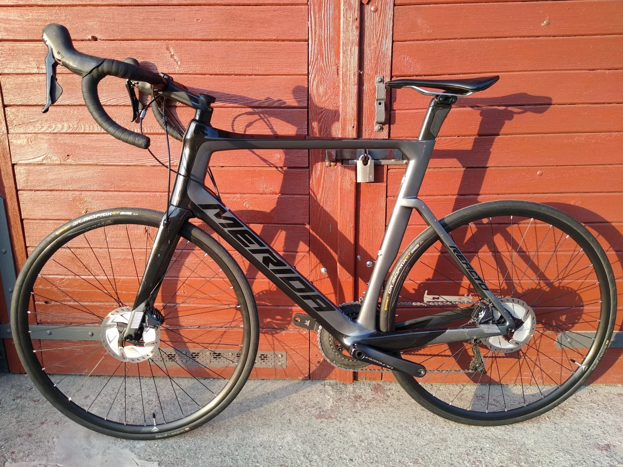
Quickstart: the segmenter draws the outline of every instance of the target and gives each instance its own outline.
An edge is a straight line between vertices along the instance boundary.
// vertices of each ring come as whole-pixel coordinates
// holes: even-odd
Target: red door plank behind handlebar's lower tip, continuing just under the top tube
[[[100,164],[156,166],[143,149],[122,143],[108,134],[14,133],[9,136],[14,164]],[[171,163],[178,165],[182,144],[169,138]],[[151,151],[166,161],[166,141],[151,138]],[[307,151],[302,149],[243,149],[219,151],[212,155],[212,167],[307,167]]]

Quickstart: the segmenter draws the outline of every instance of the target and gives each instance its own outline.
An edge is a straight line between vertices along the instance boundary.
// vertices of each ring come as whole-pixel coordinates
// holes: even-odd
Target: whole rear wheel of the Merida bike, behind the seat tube
[[[409,349],[402,357],[426,366],[426,377],[394,376],[455,422],[502,425],[556,407],[586,381],[612,336],[616,283],[601,245],[563,212],[521,200],[472,205],[440,222],[523,324],[512,336]],[[486,301],[429,227],[396,261],[382,304],[379,326],[394,331],[426,326],[417,318],[432,315],[438,328],[475,326]]]

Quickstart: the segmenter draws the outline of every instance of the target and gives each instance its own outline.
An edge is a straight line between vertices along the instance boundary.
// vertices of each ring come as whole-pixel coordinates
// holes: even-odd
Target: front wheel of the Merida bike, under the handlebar
[[[257,352],[244,273],[189,223],[154,304],[164,323],[140,344],[120,344],[161,217],[123,208],[68,222],[31,253],[12,305],[17,351],[37,388],[75,422],[121,438],[173,436],[215,417]]]

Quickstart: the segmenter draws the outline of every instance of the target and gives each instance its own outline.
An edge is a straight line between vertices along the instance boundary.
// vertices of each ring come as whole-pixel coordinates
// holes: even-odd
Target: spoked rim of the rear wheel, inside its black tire
[[[457,220],[449,226],[450,235],[493,293],[505,301],[525,301],[534,310],[534,335],[520,349],[509,352],[482,342],[404,352],[403,357],[423,364],[429,373],[417,382],[399,379],[408,380],[419,399],[442,412],[486,420],[540,410],[586,379],[606,335],[608,281],[586,238],[568,226],[565,232],[564,222],[542,213],[543,220],[536,213],[513,215],[512,220],[505,214],[485,219],[475,214],[462,219],[465,223]],[[434,240],[431,237],[414,252],[402,271],[400,296],[394,299],[396,321],[452,309],[401,306],[422,301],[425,291],[429,296],[480,299],[466,278],[458,279],[460,271]],[[460,304],[454,309],[467,307]],[[452,326],[468,325],[469,318]],[[482,366],[486,373],[478,371]]]

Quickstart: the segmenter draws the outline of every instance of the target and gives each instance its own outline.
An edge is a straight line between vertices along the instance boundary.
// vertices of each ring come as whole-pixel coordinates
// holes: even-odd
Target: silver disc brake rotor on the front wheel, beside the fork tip
[[[123,345],[119,336],[130,321],[132,308],[122,306],[107,314],[102,322],[102,344],[107,352],[122,362],[138,363],[145,361],[158,350],[160,345],[160,330],[145,328],[143,331],[143,345]]]

